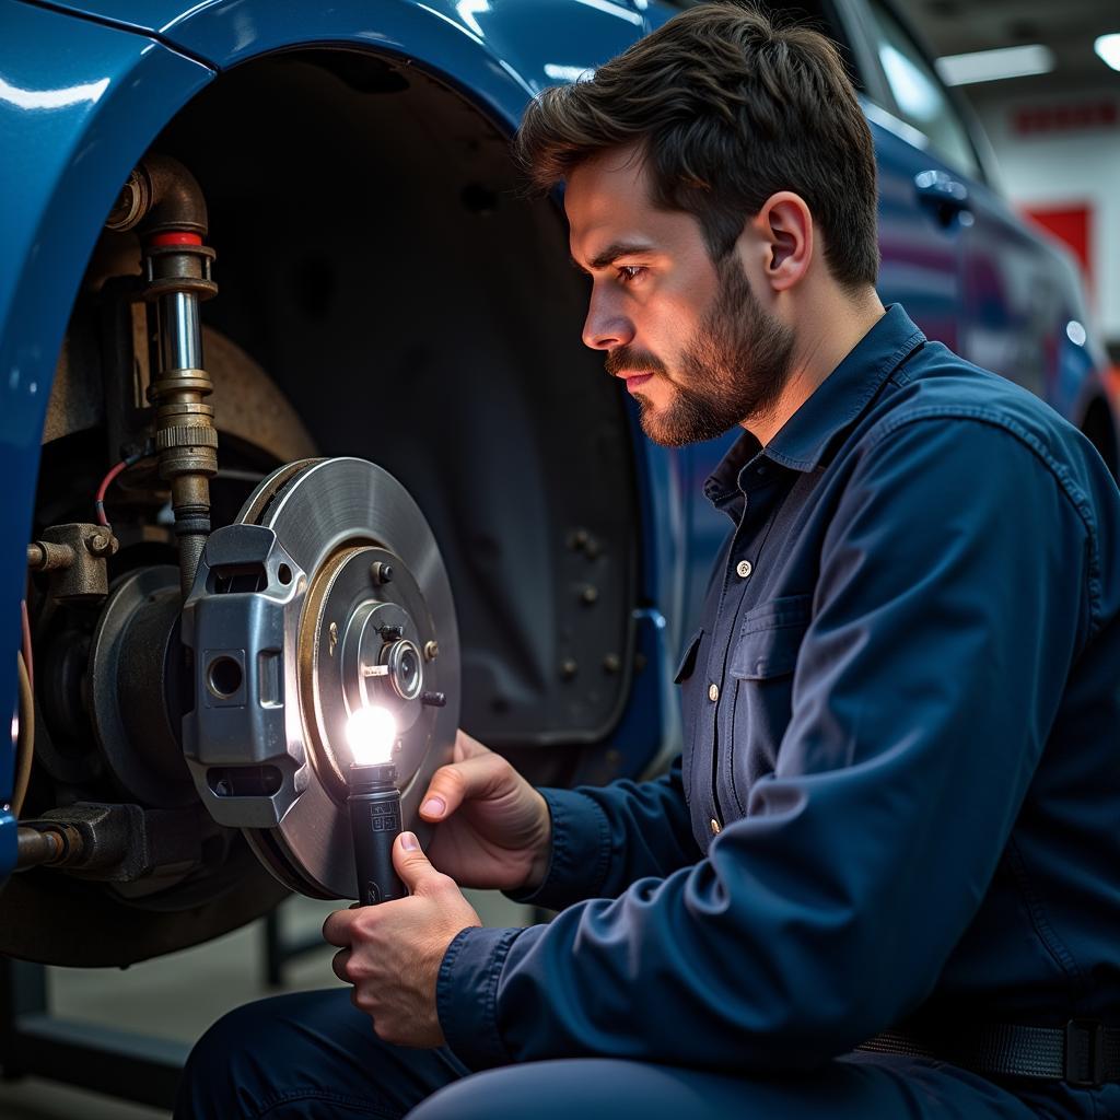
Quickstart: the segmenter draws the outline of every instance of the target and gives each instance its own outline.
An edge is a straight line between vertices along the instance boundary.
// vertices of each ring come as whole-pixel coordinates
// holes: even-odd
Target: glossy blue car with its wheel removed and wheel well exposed
[[[185,772],[152,762],[129,670],[99,654],[125,584],[174,584],[150,465],[106,498],[112,595],[64,601],[50,573],[28,575],[28,541],[91,522],[99,483],[149,433],[160,325],[136,232],[106,218],[152,155],[197,180],[217,253],[203,305],[215,526],[286,463],[376,463],[438,541],[466,729],[549,783],[637,776],[679,748],[673,665],[726,532],[700,484],[734,437],[679,450],[642,437],[580,343],[587,291],[562,214],[525,196],[507,141],[541,88],[680,7],[0,0],[0,618],[10,662],[26,599],[38,718],[24,815],[132,806],[111,867],[9,879],[0,952],[127,964],[259,916],[292,881],[265,869],[260,837],[246,847],[203,811]],[[808,9],[874,134],[883,299],[1038,393],[1116,472],[1117,401],[1071,259],[991,187],[982,137],[893,9]],[[159,648],[174,653],[170,633]],[[152,718],[177,737],[176,665],[160,663]],[[16,713],[0,745],[10,804],[15,674],[0,674],[0,709]],[[0,875],[16,864],[3,811]]]

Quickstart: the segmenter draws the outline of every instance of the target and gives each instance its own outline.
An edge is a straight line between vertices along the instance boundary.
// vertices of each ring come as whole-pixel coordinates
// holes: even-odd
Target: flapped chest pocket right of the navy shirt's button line
[[[792,713],[793,673],[811,616],[811,595],[773,599],[744,616],[731,650],[730,749],[722,752],[718,785],[721,802],[734,803],[741,814],[752,785],[777,765]]]

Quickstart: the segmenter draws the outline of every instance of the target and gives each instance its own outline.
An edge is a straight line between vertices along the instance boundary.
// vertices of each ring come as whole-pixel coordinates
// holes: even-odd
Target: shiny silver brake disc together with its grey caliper
[[[281,881],[354,897],[346,741],[388,709],[402,819],[417,819],[459,720],[450,584],[419,506],[363,459],[305,459],[265,478],[207,541],[184,606],[196,703],[184,752],[203,802]]]

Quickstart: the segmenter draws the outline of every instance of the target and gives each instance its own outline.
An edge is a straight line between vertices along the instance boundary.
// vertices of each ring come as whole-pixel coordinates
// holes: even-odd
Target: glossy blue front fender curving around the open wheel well
[[[172,0],[139,12],[127,2],[46,9],[2,0],[0,137],[9,158],[0,167],[0,194],[15,202],[0,215],[9,262],[0,272],[0,468],[7,479],[2,524],[11,543],[0,553],[3,648],[19,645],[22,542],[69,307],[121,184],[167,121],[218,71],[271,52],[329,44],[412,59],[512,132],[545,84],[592,68],[643,35],[640,7],[615,0],[347,0],[320,9]],[[668,468],[663,456],[650,459],[650,485],[660,493]],[[651,539],[660,539],[661,521],[646,519]],[[647,564],[647,579],[656,581],[662,570]],[[638,629],[643,646],[661,661],[670,656],[663,627],[640,619]],[[0,673],[0,711],[16,711],[15,674]],[[632,749],[654,730],[660,736],[660,713],[650,719],[644,735],[629,721]],[[4,805],[13,759],[15,722],[0,746]],[[15,864],[15,825],[0,810],[0,876]]]

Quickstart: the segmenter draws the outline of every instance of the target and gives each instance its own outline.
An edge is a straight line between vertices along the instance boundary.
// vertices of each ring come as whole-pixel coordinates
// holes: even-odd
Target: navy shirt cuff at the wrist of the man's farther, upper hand
[[[528,906],[563,909],[603,893],[610,865],[610,822],[598,802],[578,790],[541,788],[552,818],[549,869],[535,890],[506,890]]]

